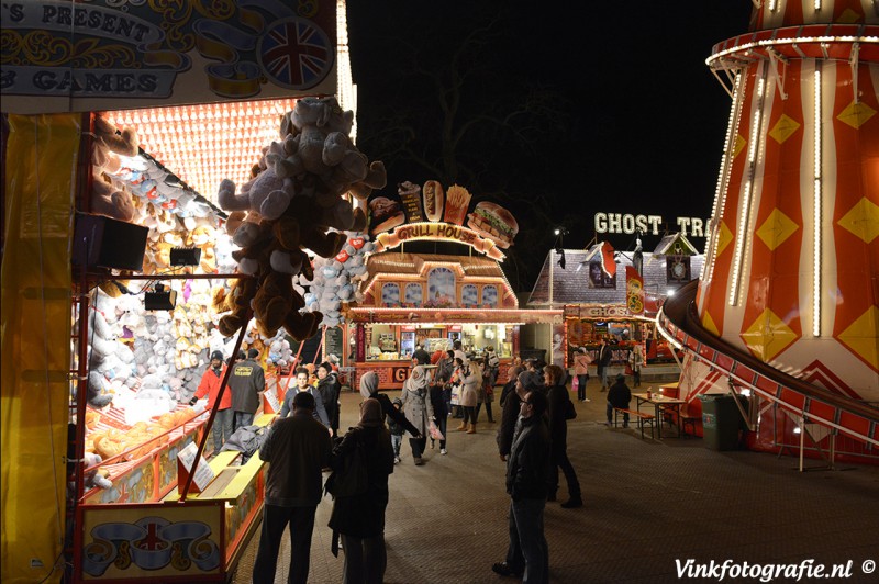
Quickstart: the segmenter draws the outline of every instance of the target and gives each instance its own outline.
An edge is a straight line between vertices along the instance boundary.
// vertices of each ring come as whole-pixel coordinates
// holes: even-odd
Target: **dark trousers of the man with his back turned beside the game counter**
[[[254,562],[254,584],[272,584],[278,564],[278,550],[283,529],[290,525],[290,568],[288,584],[309,581],[311,534],[318,507],[280,507],[266,504],[263,508],[263,530]]]

